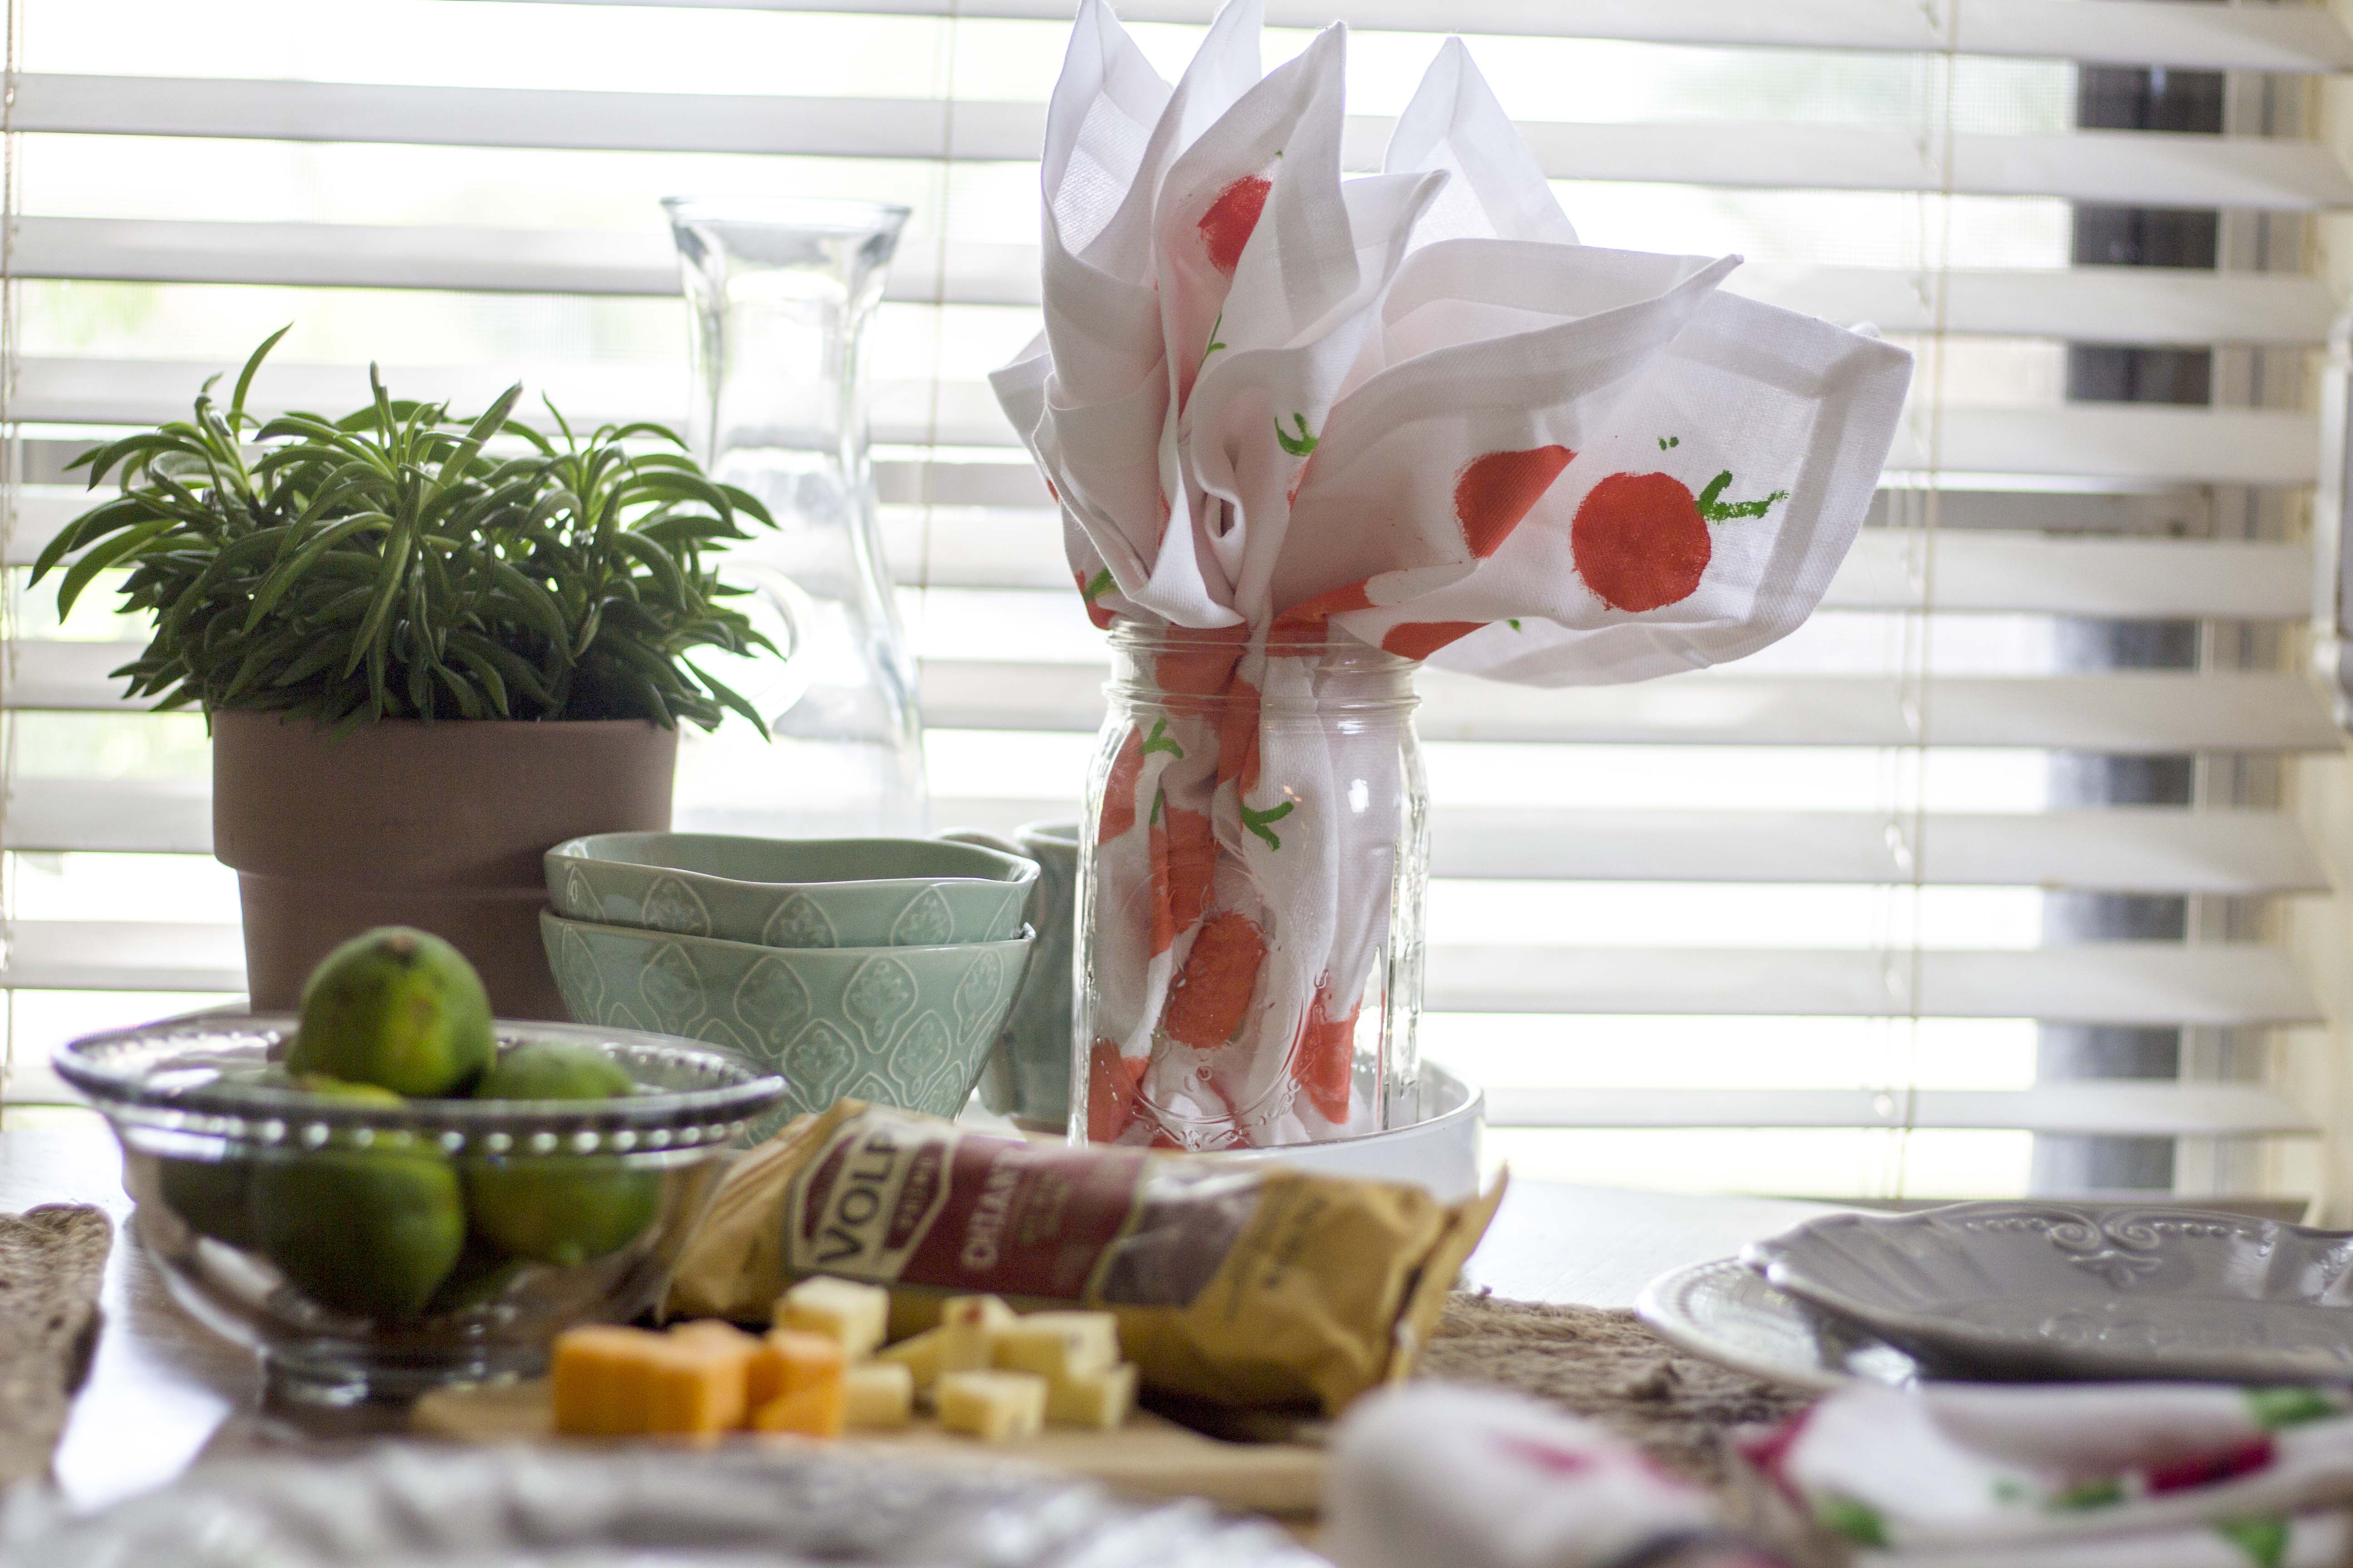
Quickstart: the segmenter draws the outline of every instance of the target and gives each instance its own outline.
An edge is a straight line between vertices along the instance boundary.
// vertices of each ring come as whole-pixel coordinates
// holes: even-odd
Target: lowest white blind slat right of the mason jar
[[[2252,1084],[2042,1084],[2035,1088],[1548,1088],[1494,1084],[1487,1126],[1671,1128],[1913,1126],[2097,1138],[2318,1135],[2320,1124]]]

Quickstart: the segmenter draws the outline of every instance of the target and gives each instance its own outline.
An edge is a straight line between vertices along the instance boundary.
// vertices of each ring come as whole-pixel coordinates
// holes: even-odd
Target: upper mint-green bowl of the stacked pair
[[[567,919],[762,947],[939,947],[1021,936],[1038,865],[941,839],[598,832],[546,853]]]

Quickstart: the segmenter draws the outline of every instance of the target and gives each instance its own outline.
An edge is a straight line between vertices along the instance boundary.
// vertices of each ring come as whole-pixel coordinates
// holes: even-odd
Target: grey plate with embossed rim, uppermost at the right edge
[[[1958,1378],[2353,1378],[2353,1232],[2205,1208],[1826,1215],[1741,1260]]]

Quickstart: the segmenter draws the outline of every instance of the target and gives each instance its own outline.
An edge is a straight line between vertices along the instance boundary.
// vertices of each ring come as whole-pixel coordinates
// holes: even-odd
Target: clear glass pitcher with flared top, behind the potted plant
[[[786,658],[711,658],[767,715],[682,736],[678,825],[793,837],[927,830],[915,661],[875,527],[866,324],[906,207],[671,197],[692,308],[687,442],[713,477],[758,496],[722,578]]]

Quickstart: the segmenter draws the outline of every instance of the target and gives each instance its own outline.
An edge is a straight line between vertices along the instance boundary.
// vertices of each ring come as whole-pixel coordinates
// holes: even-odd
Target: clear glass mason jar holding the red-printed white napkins
[[[1087,778],[1071,1135],[1181,1150],[1417,1119],[1414,663],[1120,621]]]

